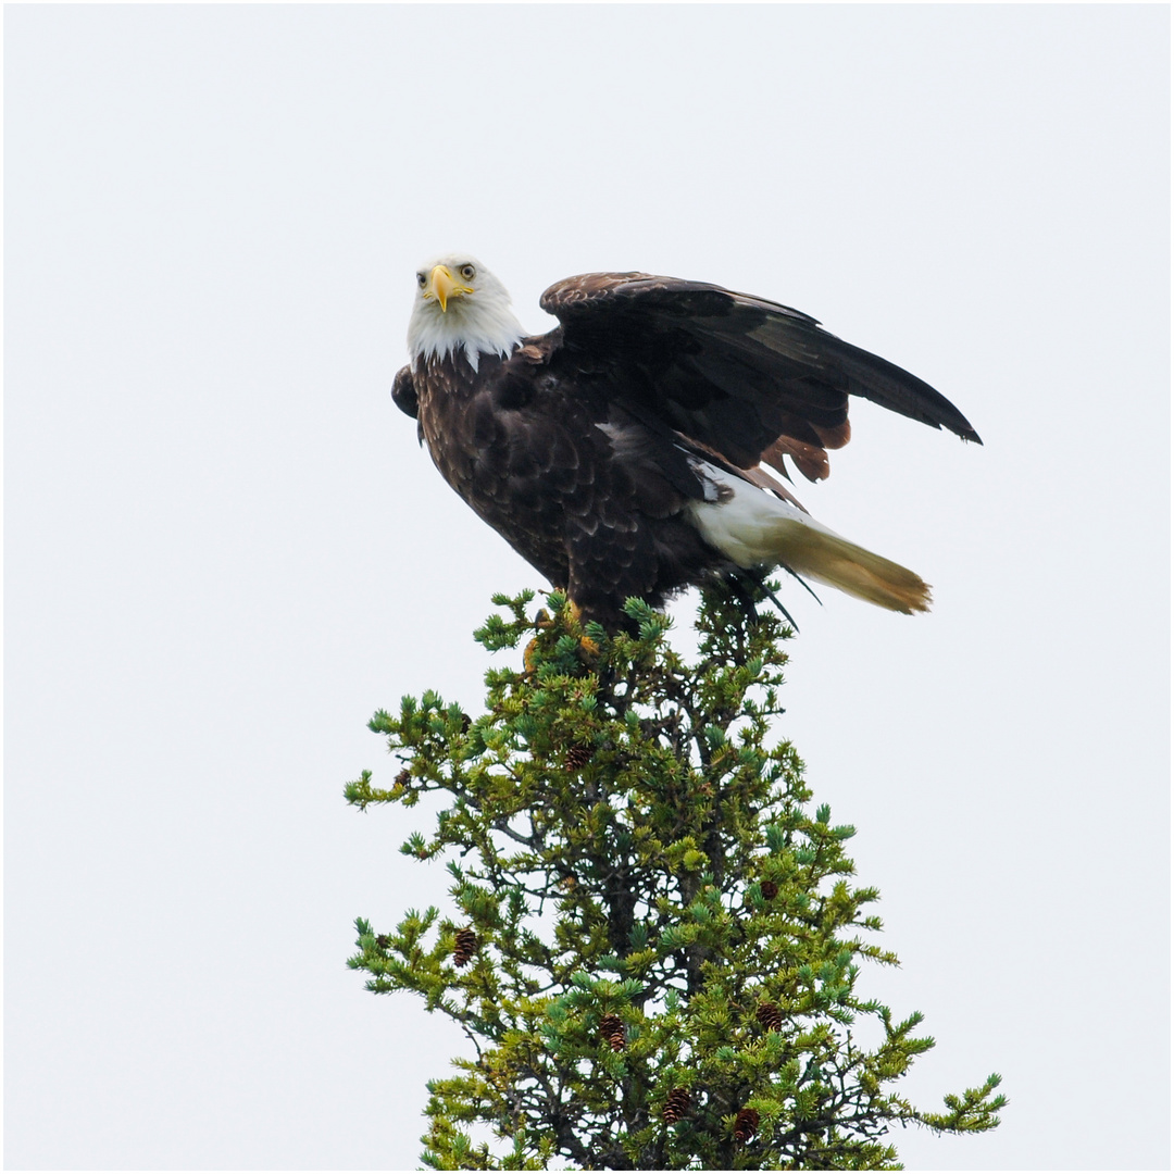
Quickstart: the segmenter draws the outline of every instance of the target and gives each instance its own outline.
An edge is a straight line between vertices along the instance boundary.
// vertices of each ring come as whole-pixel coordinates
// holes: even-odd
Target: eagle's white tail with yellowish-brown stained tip
[[[891,612],[926,612],[930,588],[912,571],[873,554],[772,494],[706,463],[699,471],[733,494],[689,506],[702,538],[740,567],[787,566]],[[724,497],[724,494],[722,494]]]

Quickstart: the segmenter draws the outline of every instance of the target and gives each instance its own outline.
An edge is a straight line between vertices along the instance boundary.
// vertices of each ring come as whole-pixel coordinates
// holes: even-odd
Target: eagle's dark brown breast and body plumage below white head
[[[684,454],[625,420],[603,377],[580,375],[567,393],[546,339],[479,366],[459,356],[416,372],[423,440],[473,511],[586,616],[614,626],[628,596],[661,606],[728,561],[682,512],[703,497]]]

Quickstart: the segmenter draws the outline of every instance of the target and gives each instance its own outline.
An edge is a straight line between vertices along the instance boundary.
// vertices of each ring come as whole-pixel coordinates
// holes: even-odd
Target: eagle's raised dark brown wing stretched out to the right
[[[583,274],[552,285],[541,306],[561,348],[613,369],[622,397],[742,468],[789,456],[810,480],[848,443],[848,398],[861,396],[981,444],[940,392],[842,342],[798,310],[720,285],[650,274]]]

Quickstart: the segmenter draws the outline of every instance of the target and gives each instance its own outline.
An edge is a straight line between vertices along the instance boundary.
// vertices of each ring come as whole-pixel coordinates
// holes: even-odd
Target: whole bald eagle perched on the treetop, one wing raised
[[[893,612],[924,612],[912,571],[816,521],[769,466],[828,475],[849,396],[965,440],[920,379],[805,313],[703,282],[585,274],[552,285],[527,336],[475,258],[416,274],[411,363],[392,397],[475,513],[585,620],[625,625],[689,585],[782,567]]]

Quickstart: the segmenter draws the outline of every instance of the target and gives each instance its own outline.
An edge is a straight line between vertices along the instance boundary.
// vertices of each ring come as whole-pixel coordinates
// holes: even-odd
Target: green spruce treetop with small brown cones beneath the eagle
[[[349,960],[473,1045],[429,1084],[424,1161],[895,1169],[897,1124],[998,1125],[998,1075],[940,1113],[891,1088],[933,1040],[857,993],[863,959],[897,962],[871,940],[877,892],[851,882],[853,829],[812,812],[796,751],[768,744],[790,629],[707,592],[687,664],[640,601],[615,636],[558,593],[532,601],[495,596],[510,618],[475,634],[528,641],[522,668],[487,673],[486,711],[434,693],[380,710],[404,769],[345,791],[360,809],[448,804],[402,851],[448,857],[452,916],[360,918]]]

